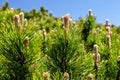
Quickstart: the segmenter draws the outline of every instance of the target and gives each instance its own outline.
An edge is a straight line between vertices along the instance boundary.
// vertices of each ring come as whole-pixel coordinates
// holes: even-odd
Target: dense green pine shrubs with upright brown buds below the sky
[[[0,8],[0,80],[120,80],[120,27],[44,7]]]

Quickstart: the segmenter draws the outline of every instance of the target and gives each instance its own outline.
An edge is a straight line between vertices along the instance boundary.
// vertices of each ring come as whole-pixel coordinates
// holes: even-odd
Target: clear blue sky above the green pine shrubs
[[[0,0],[0,7],[9,2],[11,8],[21,8],[24,11],[40,10],[44,6],[56,17],[70,13],[73,20],[85,17],[92,9],[97,16],[97,22],[105,24],[109,19],[111,24],[120,25],[120,0]]]

